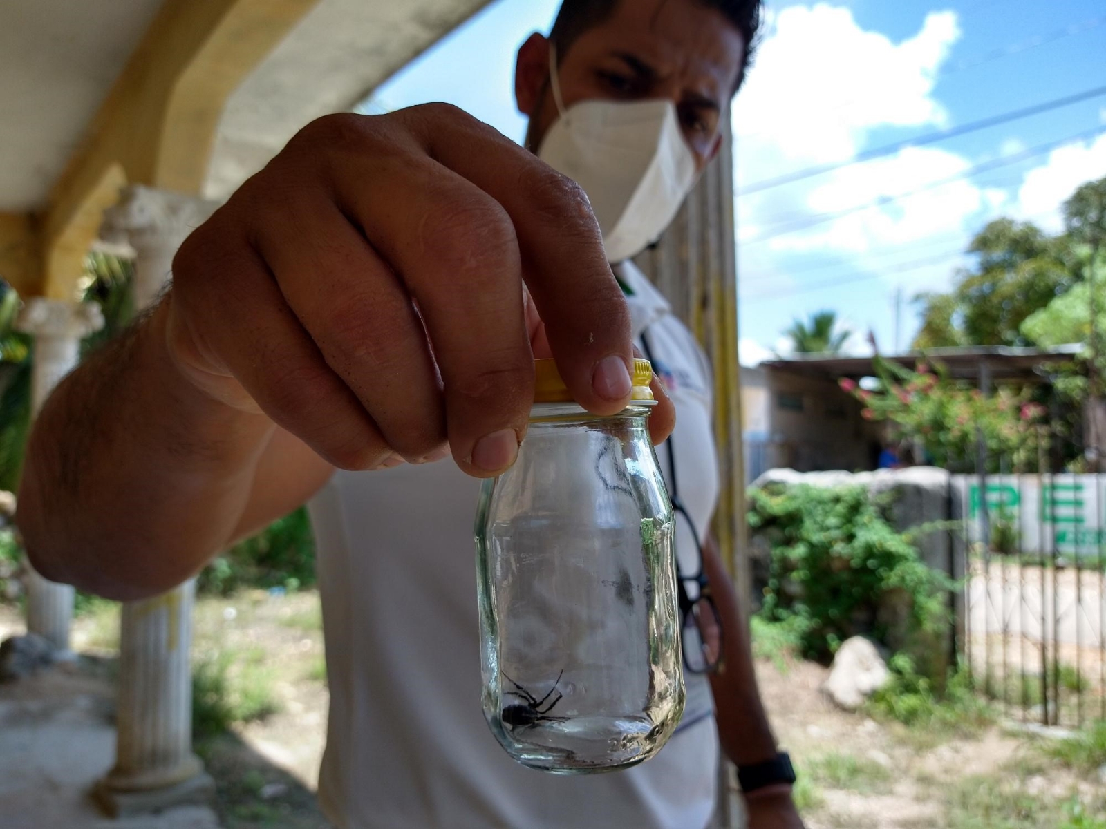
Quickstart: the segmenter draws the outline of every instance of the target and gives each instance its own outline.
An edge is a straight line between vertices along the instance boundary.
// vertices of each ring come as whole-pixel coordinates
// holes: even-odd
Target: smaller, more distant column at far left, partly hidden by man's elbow
[[[81,339],[100,330],[104,316],[95,303],[29,300],[15,327],[34,337],[31,411],[38,414],[50,392],[77,364]],[[27,629],[50,641],[62,658],[70,654],[74,590],[48,581],[28,567]]]

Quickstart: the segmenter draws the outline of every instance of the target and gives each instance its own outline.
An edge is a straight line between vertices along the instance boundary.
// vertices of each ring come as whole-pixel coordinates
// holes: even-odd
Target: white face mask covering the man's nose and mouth
[[[671,101],[582,101],[565,111],[550,50],[561,117],[538,157],[584,188],[607,260],[622,262],[656,242],[695,187],[696,161]]]

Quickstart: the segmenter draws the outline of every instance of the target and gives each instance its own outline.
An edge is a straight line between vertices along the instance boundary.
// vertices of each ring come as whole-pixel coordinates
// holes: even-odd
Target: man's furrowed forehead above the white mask
[[[744,60],[741,32],[698,0],[622,0],[584,39],[599,50],[634,54],[664,74],[679,73],[696,86],[710,83],[726,98]]]

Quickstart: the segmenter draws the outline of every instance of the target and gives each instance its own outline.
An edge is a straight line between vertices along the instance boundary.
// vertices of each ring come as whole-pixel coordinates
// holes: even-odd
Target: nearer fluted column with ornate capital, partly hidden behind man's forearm
[[[101,237],[135,251],[135,311],[169,280],[180,243],[216,202],[129,187],[104,214]],[[215,783],[192,753],[191,632],[196,581],[123,606],[115,767],[94,791],[115,817],[204,804]]]

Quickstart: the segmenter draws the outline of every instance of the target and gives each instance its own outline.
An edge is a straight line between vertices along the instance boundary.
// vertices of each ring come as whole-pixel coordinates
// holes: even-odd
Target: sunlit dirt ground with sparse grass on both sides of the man
[[[96,607],[74,628],[75,647],[98,657],[97,670],[108,675],[116,613]],[[326,829],[313,795],[327,702],[317,596],[201,599],[194,660],[220,653],[229,657],[233,704],[262,712],[197,742],[218,785],[221,825]],[[1106,779],[1061,768],[1035,738],[1000,727],[919,733],[834,709],[818,690],[826,676],[821,665],[764,661],[758,672],[780,742],[802,778],[797,799],[810,829],[1106,827]]]

